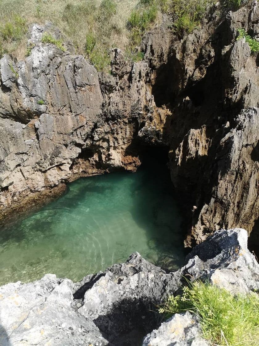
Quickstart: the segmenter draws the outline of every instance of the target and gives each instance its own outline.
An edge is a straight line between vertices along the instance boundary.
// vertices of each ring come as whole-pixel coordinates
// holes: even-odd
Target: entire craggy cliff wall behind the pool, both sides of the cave
[[[169,148],[172,182],[184,196],[186,246],[215,229],[259,234],[259,38],[257,1],[222,13],[179,39],[170,18],[146,34],[144,60],[111,51],[97,73],[67,44],[42,44],[32,25],[25,61],[0,60],[0,219],[48,201],[80,176],[135,171],[141,144]]]

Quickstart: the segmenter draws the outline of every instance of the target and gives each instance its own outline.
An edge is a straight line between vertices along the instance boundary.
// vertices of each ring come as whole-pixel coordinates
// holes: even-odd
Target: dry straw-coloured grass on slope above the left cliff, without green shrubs
[[[0,4],[0,55],[10,53],[18,59],[24,58],[28,26],[50,21],[73,42],[77,54],[86,55],[86,37],[94,34],[96,46],[92,55],[102,52],[103,60],[107,60],[107,48],[125,49],[129,45],[126,24],[137,0],[0,0]],[[17,22],[17,18],[25,25]],[[4,32],[8,27],[19,32],[7,37]],[[103,63],[97,63],[97,68],[103,69],[99,65]]]

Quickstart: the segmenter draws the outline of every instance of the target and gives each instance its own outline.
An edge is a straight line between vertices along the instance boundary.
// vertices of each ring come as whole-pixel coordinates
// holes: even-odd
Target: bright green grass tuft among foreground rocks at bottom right
[[[181,295],[169,297],[159,309],[166,318],[190,311],[200,317],[203,337],[212,345],[259,345],[259,297],[257,293],[233,296],[227,290],[196,281]]]

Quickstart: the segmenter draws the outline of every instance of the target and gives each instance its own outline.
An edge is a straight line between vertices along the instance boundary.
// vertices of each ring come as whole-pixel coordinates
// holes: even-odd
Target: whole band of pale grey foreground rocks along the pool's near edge
[[[150,333],[143,345],[205,346],[194,316],[175,315],[159,327],[157,305],[179,289],[184,277],[208,278],[234,293],[259,290],[259,265],[247,239],[244,229],[216,231],[176,272],[165,272],[134,253],[126,263],[79,283],[47,274],[33,283],[4,285],[1,345],[139,345]]]

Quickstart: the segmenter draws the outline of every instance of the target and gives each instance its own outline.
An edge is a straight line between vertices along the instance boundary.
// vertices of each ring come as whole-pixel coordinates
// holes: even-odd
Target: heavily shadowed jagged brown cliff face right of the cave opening
[[[172,115],[163,135],[173,184],[186,195],[186,246],[219,228],[259,233],[258,56],[244,39],[236,40],[241,26],[257,35],[258,20],[253,1],[223,20],[214,13],[172,43],[165,67],[171,85],[164,86],[171,92],[163,100]]]

